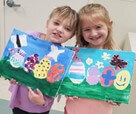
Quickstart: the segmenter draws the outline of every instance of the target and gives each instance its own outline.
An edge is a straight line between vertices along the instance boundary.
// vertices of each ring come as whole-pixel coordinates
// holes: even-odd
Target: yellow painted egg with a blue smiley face
[[[124,90],[130,82],[130,73],[126,70],[119,72],[114,80],[114,86],[119,90]]]

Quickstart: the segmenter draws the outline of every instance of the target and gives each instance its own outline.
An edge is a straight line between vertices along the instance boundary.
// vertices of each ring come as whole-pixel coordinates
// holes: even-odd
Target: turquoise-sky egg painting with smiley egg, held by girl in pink
[[[133,52],[74,48],[75,55],[59,94],[129,103]]]

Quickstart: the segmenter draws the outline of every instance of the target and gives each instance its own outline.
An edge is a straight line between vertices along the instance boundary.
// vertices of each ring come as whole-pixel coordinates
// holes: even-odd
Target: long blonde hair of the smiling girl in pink
[[[111,20],[109,18],[109,13],[104,6],[101,4],[87,4],[82,7],[79,11],[79,26],[77,32],[77,42],[76,46],[84,47],[88,45],[82,36],[82,24],[84,21],[89,20],[91,23],[96,23],[97,21],[103,21],[108,28],[108,36],[106,41],[104,42],[104,49],[116,49],[115,42],[112,38],[112,25]]]

